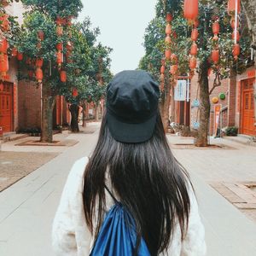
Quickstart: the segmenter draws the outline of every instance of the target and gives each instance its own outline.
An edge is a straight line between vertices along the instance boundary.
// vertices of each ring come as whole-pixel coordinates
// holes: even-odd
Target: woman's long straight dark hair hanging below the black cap
[[[152,256],[166,251],[176,221],[182,239],[185,237],[190,210],[189,177],[172,155],[160,113],[154,134],[145,143],[115,141],[108,130],[106,115],[103,116],[96,148],[84,172],[84,214],[95,237],[106,212],[107,167],[111,189],[135,220],[137,245],[143,237]]]

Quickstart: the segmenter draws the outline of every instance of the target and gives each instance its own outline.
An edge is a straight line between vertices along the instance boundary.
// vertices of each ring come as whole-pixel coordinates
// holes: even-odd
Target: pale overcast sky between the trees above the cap
[[[111,71],[135,69],[144,55],[143,35],[154,18],[156,0],[82,0],[79,20],[90,16],[99,26],[99,41],[113,48]]]

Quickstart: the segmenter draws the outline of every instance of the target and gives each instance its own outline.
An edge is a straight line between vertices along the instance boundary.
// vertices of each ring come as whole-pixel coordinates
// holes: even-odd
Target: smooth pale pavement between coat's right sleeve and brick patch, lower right
[[[218,192],[189,172],[206,228],[207,256],[247,256],[256,252],[256,224]]]

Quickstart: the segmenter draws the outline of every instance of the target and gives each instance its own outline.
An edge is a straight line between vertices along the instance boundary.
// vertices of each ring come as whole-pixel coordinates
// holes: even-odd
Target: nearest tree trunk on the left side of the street
[[[42,122],[41,122],[41,138],[42,143],[52,143],[53,141],[53,108],[55,106],[55,97],[49,95],[47,85],[42,85],[43,106],[42,106]]]

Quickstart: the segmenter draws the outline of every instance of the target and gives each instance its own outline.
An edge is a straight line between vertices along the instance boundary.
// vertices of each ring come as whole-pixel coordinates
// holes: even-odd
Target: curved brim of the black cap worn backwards
[[[120,143],[143,143],[148,141],[154,132],[156,113],[140,124],[128,124],[119,121],[107,111],[108,129],[112,137]]]

